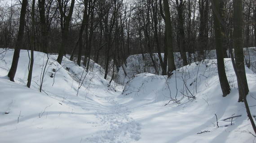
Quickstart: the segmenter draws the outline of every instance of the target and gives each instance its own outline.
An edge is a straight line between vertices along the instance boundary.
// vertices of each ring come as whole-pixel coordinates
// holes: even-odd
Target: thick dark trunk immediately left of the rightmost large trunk
[[[222,0],[221,0],[222,1]],[[221,19],[224,14],[220,8],[220,0],[212,0],[212,11],[213,11],[213,20],[214,20],[214,29],[215,29],[215,43],[216,43],[216,55],[217,55],[217,68],[218,75],[221,84],[222,96],[225,97],[230,93],[230,85],[227,80],[225,72],[225,64],[223,60],[223,43],[222,39],[224,36],[221,30]],[[218,19],[218,16],[221,19]]]

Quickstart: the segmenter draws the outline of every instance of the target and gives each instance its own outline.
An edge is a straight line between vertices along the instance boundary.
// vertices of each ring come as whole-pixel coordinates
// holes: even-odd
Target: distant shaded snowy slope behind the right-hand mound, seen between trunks
[[[248,63],[250,62],[250,69],[256,73],[256,47],[244,48],[243,51],[244,51],[245,60],[247,60]],[[206,52],[205,53],[206,59],[216,59],[215,50],[206,50],[205,52]],[[227,51],[227,53],[229,52]],[[161,56],[163,59],[164,54],[161,53]],[[149,72],[152,74],[159,73],[158,75],[161,75],[162,69],[160,66],[158,54],[153,53],[153,59],[156,63],[158,72],[155,71],[149,54],[129,55],[128,58],[126,59],[126,62],[127,62],[126,65],[123,65],[123,67],[119,68],[116,81],[123,84],[123,83],[126,83],[130,78],[132,78],[132,76],[135,76],[143,72]],[[192,54],[191,57],[189,57],[189,53],[187,52],[187,59],[188,61],[190,60],[194,61],[194,55]],[[182,67],[182,59],[179,52],[174,53],[174,60],[175,60],[176,67],[178,68]]]

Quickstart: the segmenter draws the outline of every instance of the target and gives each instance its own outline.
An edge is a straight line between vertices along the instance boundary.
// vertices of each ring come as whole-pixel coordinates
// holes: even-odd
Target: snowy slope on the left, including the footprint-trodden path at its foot
[[[93,72],[85,72],[65,57],[59,65],[55,61],[57,55],[50,55],[44,92],[39,93],[47,55],[35,52],[29,89],[27,51],[21,51],[15,83],[6,76],[13,50],[3,51],[0,52],[0,143],[118,143],[123,139],[123,143],[128,143],[140,139],[137,134],[140,125],[128,117],[130,112],[126,107],[113,100],[120,91],[115,92],[102,78],[97,72],[101,68],[98,65]],[[80,79],[85,80],[76,96]]]

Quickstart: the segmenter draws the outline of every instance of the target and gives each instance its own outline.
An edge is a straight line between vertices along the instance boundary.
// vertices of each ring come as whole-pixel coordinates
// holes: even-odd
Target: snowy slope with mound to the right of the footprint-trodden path
[[[171,79],[142,73],[129,80],[119,102],[130,107],[131,117],[141,123],[140,143],[253,143],[255,138],[247,133],[253,130],[244,104],[237,102],[237,81],[230,59],[225,59],[225,68],[231,85],[227,97],[221,94],[215,59],[181,67]],[[256,115],[256,75],[247,67],[246,73],[250,89],[247,99]],[[186,96],[192,95],[196,99],[188,100]],[[180,104],[171,101],[164,106],[170,96]],[[231,119],[224,121],[237,115],[242,116],[233,118],[232,126]]]

